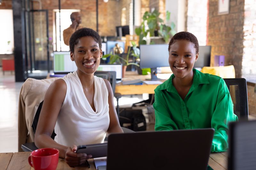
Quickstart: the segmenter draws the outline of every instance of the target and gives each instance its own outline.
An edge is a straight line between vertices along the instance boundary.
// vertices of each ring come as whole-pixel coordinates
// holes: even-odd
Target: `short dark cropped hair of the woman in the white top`
[[[74,32],[69,39],[70,51],[74,53],[74,47],[76,44],[78,44],[79,39],[87,36],[92,37],[99,44],[99,47],[101,49],[102,45],[100,35],[91,28],[81,28],[79,30],[76,30],[76,32]]]

